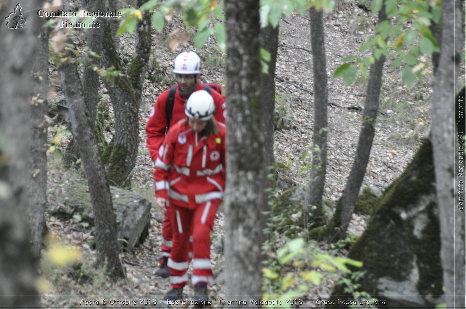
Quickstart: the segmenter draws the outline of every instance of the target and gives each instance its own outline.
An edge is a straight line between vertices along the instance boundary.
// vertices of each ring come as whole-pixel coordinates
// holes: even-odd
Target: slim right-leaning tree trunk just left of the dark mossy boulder
[[[379,25],[387,19],[385,5],[378,13]],[[340,222],[340,239],[346,237],[351,215],[353,214],[356,198],[363,183],[367,163],[369,162],[370,148],[374,139],[377,110],[379,106],[380,87],[382,86],[382,73],[384,70],[385,56],[382,54],[376,62],[370,66],[369,83],[367,85],[366,103],[364,105],[363,123],[359,140],[357,142],[356,157],[349,173],[348,180],[342,195],[342,214]]]

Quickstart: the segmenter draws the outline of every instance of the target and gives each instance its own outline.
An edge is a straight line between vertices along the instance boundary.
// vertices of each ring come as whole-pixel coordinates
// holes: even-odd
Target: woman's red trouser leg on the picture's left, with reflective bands
[[[170,206],[171,226],[173,231],[173,246],[168,260],[170,270],[170,284],[172,288],[182,288],[187,283],[186,271],[188,269],[188,249],[189,237],[192,229],[192,210],[178,207],[174,204]]]

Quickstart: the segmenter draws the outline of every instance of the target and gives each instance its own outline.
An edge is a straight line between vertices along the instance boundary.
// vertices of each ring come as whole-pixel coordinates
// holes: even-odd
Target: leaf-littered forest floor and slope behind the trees
[[[356,145],[360,130],[361,108],[364,106],[367,80],[358,75],[350,87],[343,86],[341,78],[333,78],[335,69],[343,64],[341,59],[350,54],[361,54],[358,47],[373,34],[377,17],[363,11],[357,6],[357,1],[338,1],[332,13],[324,15],[325,49],[327,58],[327,72],[329,82],[328,121],[331,127],[328,135],[328,161],[324,199],[336,201],[340,198],[346,179],[356,152]],[[153,163],[145,147],[144,126],[149,117],[158,94],[174,83],[171,73],[173,60],[177,54],[185,50],[194,50],[192,35],[187,46],[179,46],[175,51],[168,48],[167,35],[181,22],[172,21],[165,26],[161,34],[152,35],[151,63],[158,63],[158,67],[151,67],[144,83],[143,102],[140,113],[140,141],[137,165],[132,178],[132,190],[144,195],[154,205],[154,184],[152,177]],[[130,59],[133,38],[124,35],[120,42],[123,62]],[[277,107],[284,119],[281,130],[275,131],[274,155],[275,160],[288,165],[287,176],[297,185],[306,185],[308,172],[301,173],[296,163],[305,166],[310,159],[304,160],[302,153],[308,151],[312,143],[313,128],[313,73],[312,53],[310,52],[309,17],[292,14],[280,22],[280,37],[276,65],[276,94]],[[221,53],[214,42],[205,44],[198,50],[204,61],[203,81],[225,83],[224,64],[226,55]],[[418,145],[429,132],[430,109],[432,100],[432,74],[427,74],[424,81],[415,81],[411,88],[406,88],[401,80],[402,70],[392,69],[389,64],[394,56],[389,54],[384,68],[383,86],[380,94],[380,113],[377,117],[376,135],[372,144],[370,162],[366,170],[363,186],[372,185],[380,189],[388,187],[403,172],[406,165],[416,152]],[[425,60],[428,66],[430,60]],[[126,61],[127,62],[127,61]],[[463,69],[464,75],[464,69]],[[52,76],[52,78],[55,75]],[[54,81],[54,80],[52,80]],[[57,80],[55,80],[57,82]],[[299,87],[297,87],[299,86]],[[56,94],[57,99],[60,92]],[[103,94],[106,97],[106,94]],[[228,103],[228,101],[227,101]],[[56,130],[56,128],[55,128]],[[51,136],[55,135],[54,128],[50,128]],[[108,133],[109,140],[111,132]],[[67,137],[60,141],[66,146]],[[53,156],[51,156],[53,158]],[[54,159],[50,159],[54,161]],[[63,172],[60,163],[50,165],[48,171],[49,186],[65,181],[70,173]],[[278,192],[280,193],[280,192]],[[277,193],[277,194],[278,194]],[[93,251],[89,249],[86,240],[89,233],[82,228],[82,222],[57,219],[48,216],[48,227],[62,242],[76,245],[82,249],[83,265],[81,283],[77,284],[69,273],[51,267],[42,262],[42,276],[44,294],[47,295],[101,295],[79,297],[43,297],[43,306],[69,307],[84,301],[102,298],[110,299],[160,299],[155,295],[164,295],[169,289],[169,279],[162,279],[154,275],[158,269],[158,253],[161,242],[161,219],[163,214],[157,207],[152,207],[152,221],[150,235],[145,242],[133,252],[121,253],[123,264],[127,271],[127,278],[118,282],[110,282],[101,273],[91,267]],[[223,214],[219,212],[213,233],[223,234]],[[355,215],[351,222],[350,233],[359,235],[363,231],[367,218]],[[319,244],[322,250],[328,249],[326,244]],[[340,254],[344,254],[344,250]],[[212,253],[212,264],[220,264],[223,260],[221,252]],[[329,295],[336,277],[325,276],[321,284],[312,286],[309,299],[325,298]],[[258,282],[260,284],[260,282]],[[47,288],[48,289],[45,289]],[[226,294],[224,283],[214,284],[209,288],[212,296]],[[191,284],[184,291],[185,295],[193,294]],[[118,295],[118,296],[102,296]],[[87,297],[87,298],[86,298]],[[139,303],[139,302],[138,302]],[[107,304],[107,306],[110,306]],[[144,305],[139,307],[158,307],[158,305]],[[318,307],[313,302],[306,307]],[[113,307],[113,306],[111,306]],[[117,306],[115,306],[117,307]],[[137,307],[137,306],[134,306]]]

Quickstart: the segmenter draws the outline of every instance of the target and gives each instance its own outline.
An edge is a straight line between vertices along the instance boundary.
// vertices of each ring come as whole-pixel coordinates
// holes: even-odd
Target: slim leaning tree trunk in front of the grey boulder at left
[[[69,57],[72,55],[69,54]],[[62,79],[63,93],[69,104],[73,134],[82,155],[82,164],[88,179],[96,226],[97,265],[106,265],[111,275],[123,276],[123,267],[118,257],[117,232],[110,188],[105,177],[96,138],[86,115],[82,84],[76,64],[63,62],[59,67],[59,74]]]

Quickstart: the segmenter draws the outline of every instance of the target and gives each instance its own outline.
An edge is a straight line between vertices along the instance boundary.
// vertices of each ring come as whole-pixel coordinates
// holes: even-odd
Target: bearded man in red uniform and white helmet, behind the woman
[[[165,138],[165,133],[168,127],[173,126],[179,120],[184,119],[185,115],[185,102],[189,96],[197,90],[204,89],[204,86],[199,83],[201,72],[201,60],[199,56],[194,52],[184,52],[179,54],[173,65],[173,73],[175,73],[178,88],[176,89],[173,108],[171,112],[170,123],[167,121],[167,99],[170,90],[165,90],[160,94],[155,102],[155,106],[152,109],[149,120],[146,124],[147,134],[147,148],[151,152],[151,159],[155,163],[158,157],[160,145]],[[225,123],[226,117],[226,104],[223,97],[213,89],[211,95],[216,107],[215,119],[221,123]],[[155,171],[154,171],[154,178]],[[156,182],[156,191],[159,189],[157,186],[160,183]],[[167,278],[170,275],[170,271],[167,267],[168,257],[170,256],[172,243],[172,227],[170,222],[170,211],[167,210],[164,215],[164,222],[162,223],[162,250],[159,255],[160,269],[157,270],[155,275]],[[190,253],[192,257],[192,252]]]

